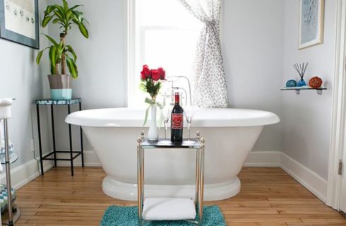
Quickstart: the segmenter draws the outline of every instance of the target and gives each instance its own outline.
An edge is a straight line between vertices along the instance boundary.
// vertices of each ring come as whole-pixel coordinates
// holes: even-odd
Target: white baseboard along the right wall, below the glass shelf
[[[311,191],[312,194],[326,203],[328,185],[326,179],[323,179],[316,172],[305,167],[285,153],[281,153],[280,167],[296,179],[297,182],[306,187],[306,189]]]

